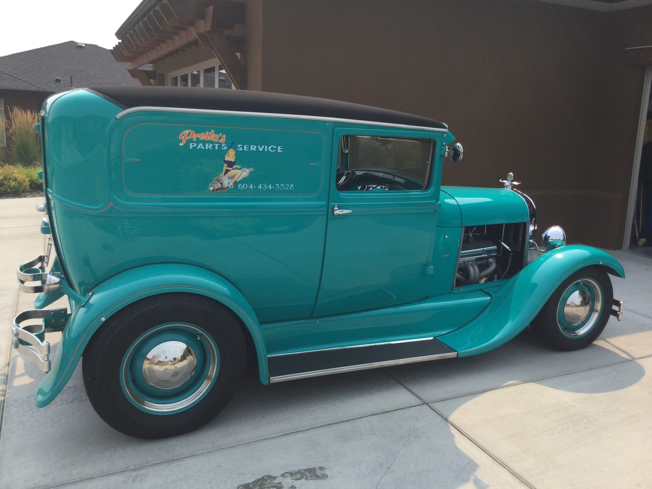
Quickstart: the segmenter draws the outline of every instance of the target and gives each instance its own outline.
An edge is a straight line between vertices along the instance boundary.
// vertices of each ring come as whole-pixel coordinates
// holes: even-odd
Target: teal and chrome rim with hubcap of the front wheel
[[[572,282],[559,298],[557,326],[567,338],[582,338],[597,324],[602,313],[604,296],[593,278]]]

